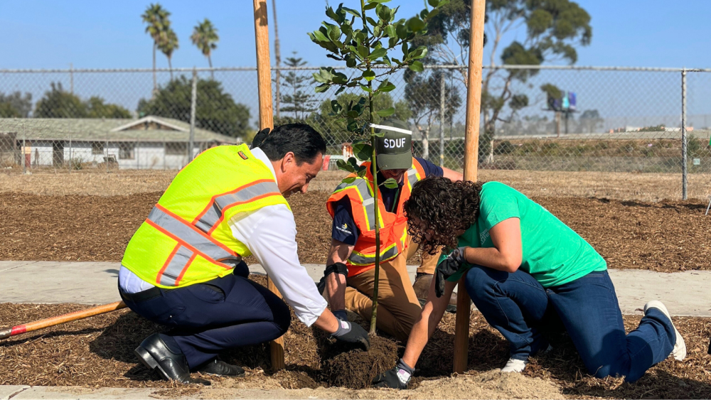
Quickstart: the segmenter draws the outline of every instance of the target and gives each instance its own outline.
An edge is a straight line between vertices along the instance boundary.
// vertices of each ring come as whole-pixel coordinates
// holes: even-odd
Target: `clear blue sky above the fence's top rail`
[[[140,18],[149,2],[0,0],[0,31],[5,38],[0,41],[0,68],[65,68],[70,63],[90,68],[150,67],[151,38]],[[252,1],[164,0],[161,4],[171,11],[181,43],[173,56],[174,67],[207,66],[189,39],[193,26],[205,17],[219,29],[215,66],[255,65]],[[419,0],[391,4],[401,5],[401,16],[422,8]],[[711,66],[711,1],[581,0],[579,4],[592,16],[593,38],[592,45],[579,50],[578,65]],[[268,5],[271,11],[271,0]],[[337,1],[331,0],[331,5]],[[277,0],[282,58],[296,50],[311,65],[331,64],[306,36],[324,19],[324,6],[324,0]],[[162,55],[158,65],[167,67]]]

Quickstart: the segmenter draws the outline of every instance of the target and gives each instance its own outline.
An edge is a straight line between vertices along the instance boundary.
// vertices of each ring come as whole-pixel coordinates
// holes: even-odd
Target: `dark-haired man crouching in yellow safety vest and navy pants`
[[[184,383],[191,370],[241,376],[217,359],[231,347],[286,333],[291,317],[274,293],[247,279],[243,257],[254,255],[296,317],[337,340],[368,347],[357,324],[326,308],[299,264],[292,193],[306,192],[323,166],[326,143],[306,124],[278,126],[247,145],[203,151],[183,168],[128,244],[119,293],[139,315],[172,328],[134,351],[166,379]]]

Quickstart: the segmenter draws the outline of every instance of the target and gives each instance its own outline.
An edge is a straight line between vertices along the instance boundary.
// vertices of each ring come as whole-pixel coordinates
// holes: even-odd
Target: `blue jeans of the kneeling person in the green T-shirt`
[[[474,266],[466,274],[466,291],[486,321],[506,337],[517,360],[545,350],[540,329],[550,323],[550,315],[560,318],[588,372],[596,377],[624,375],[634,382],[665,360],[676,342],[671,321],[656,308],[648,310],[636,330],[625,333],[607,271],[543,288],[524,271],[511,274]]]

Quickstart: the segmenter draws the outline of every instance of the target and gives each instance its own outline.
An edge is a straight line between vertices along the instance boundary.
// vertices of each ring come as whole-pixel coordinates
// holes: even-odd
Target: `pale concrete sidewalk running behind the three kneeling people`
[[[323,265],[304,267],[314,281],[323,276]],[[0,261],[0,303],[112,303],[119,300],[119,268],[117,262]],[[412,280],[415,269],[408,267]],[[250,271],[264,274],[259,264]],[[711,317],[711,271],[609,272],[624,314],[641,313],[644,303],[657,299],[673,315]]]

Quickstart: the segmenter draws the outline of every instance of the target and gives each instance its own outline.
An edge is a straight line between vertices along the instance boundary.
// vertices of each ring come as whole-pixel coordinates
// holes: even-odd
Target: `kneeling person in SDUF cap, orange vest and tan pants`
[[[427,298],[437,255],[423,254],[414,285],[407,274],[407,259],[417,244],[407,235],[407,217],[402,205],[418,180],[444,176],[461,180],[461,173],[435,166],[412,156],[412,131],[402,121],[388,121],[375,128],[384,133],[376,143],[380,199],[380,274],[378,276],[378,328],[401,340],[407,338]],[[366,163],[368,171],[370,163]],[[355,180],[351,180],[355,178]],[[388,178],[396,188],[380,183]],[[324,289],[331,310],[346,318],[346,309],[370,320],[375,283],[375,207],[370,172],[365,178],[353,175],[338,185],[328,198],[333,217],[331,249],[326,262]],[[420,301],[419,299],[422,299]],[[456,298],[452,301],[456,304]]]

